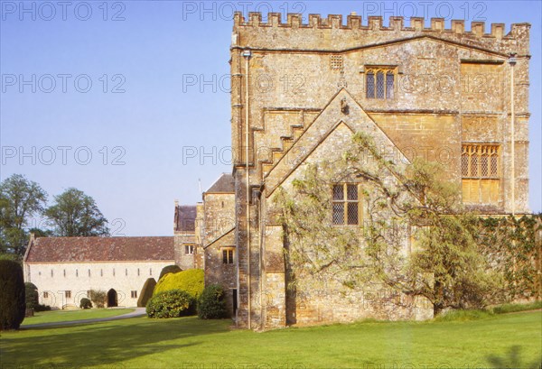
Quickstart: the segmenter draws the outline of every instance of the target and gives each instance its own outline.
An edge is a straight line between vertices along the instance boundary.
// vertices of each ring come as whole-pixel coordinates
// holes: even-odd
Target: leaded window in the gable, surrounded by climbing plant
[[[355,182],[334,183],[331,190],[332,225],[360,226],[363,219],[360,184]]]

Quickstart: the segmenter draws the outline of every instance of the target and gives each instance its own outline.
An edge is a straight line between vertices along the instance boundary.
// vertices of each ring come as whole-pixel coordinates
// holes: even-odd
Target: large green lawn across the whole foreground
[[[541,358],[540,311],[471,321],[362,322],[265,333],[230,330],[230,323],[194,317],[130,318],[3,332],[2,364],[16,368],[400,369],[530,367]]]

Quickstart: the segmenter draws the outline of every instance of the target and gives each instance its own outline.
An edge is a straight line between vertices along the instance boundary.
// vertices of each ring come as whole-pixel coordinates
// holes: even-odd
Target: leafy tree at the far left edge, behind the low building
[[[0,251],[22,257],[32,219],[42,215],[47,193],[32,180],[14,174],[0,183]]]

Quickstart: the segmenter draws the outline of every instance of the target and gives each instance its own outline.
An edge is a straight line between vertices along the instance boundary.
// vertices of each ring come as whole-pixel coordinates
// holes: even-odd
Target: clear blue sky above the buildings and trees
[[[0,180],[83,190],[114,235],[172,235],[229,165],[232,11],[532,24],[530,208],[542,211],[540,2],[1,1]],[[416,14],[414,14],[416,12]],[[407,22],[406,22],[407,23]],[[36,220],[38,222],[39,220]]]

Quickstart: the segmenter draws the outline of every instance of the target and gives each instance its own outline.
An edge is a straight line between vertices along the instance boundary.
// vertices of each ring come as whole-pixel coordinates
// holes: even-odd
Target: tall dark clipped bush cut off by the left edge
[[[0,260],[0,330],[19,329],[26,310],[23,268]]]

